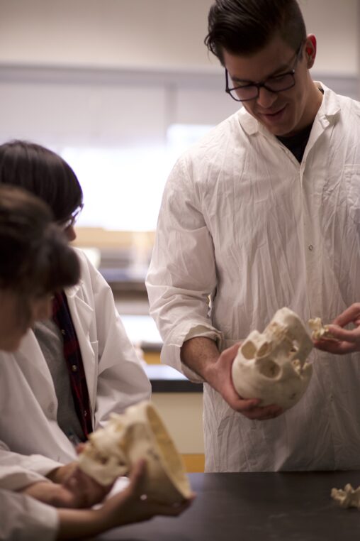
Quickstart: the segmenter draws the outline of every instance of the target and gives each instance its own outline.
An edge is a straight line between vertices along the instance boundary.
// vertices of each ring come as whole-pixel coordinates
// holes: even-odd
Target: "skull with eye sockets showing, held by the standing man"
[[[232,363],[232,382],[242,398],[287,410],[300,400],[313,372],[305,362],[313,342],[299,317],[288,308],[274,315],[264,332],[252,331]]]

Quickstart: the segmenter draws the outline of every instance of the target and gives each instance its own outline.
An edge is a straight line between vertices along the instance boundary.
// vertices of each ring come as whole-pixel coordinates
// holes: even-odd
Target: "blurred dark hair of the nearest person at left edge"
[[[0,287],[24,300],[79,280],[76,253],[53,223],[47,205],[28,192],[0,186]]]

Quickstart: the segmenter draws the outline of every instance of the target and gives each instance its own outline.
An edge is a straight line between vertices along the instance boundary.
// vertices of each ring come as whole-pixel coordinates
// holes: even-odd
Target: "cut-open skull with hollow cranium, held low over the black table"
[[[191,496],[183,461],[154,406],[146,400],[112,413],[104,428],[89,436],[79,467],[101,485],[128,474],[145,459],[144,493],[159,502],[179,503]]]

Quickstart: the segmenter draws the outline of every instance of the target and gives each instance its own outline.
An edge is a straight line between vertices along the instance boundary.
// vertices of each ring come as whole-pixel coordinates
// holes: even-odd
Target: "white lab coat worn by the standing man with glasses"
[[[194,381],[180,361],[189,337],[225,349],[283,306],[330,322],[360,300],[360,104],[322,87],[301,164],[240,109],[169,177],[147,291],[162,361]],[[248,420],[204,385],[206,471],[360,468],[360,354],[310,361],[302,400],[274,420]]]

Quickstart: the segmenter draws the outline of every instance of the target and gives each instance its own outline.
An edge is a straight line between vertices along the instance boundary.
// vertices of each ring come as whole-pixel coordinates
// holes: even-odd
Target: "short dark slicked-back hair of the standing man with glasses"
[[[296,50],[306,38],[296,0],[215,0],[208,14],[208,50],[223,64],[223,50],[252,55],[276,34]]]

